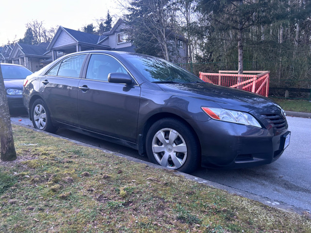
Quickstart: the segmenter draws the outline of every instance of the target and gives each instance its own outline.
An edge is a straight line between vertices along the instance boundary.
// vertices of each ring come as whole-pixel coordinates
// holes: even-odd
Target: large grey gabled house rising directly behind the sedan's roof
[[[121,32],[123,20],[119,19],[114,27],[103,35],[84,33],[60,26],[47,48],[45,55],[57,58],[77,51],[85,50],[121,50],[135,51],[135,47]]]

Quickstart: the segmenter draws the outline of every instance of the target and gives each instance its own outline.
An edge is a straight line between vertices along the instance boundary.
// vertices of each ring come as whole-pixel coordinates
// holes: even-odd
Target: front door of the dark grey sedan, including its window
[[[91,55],[86,79],[79,83],[79,124],[88,131],[135,142],[140,86],[109,83],[108,74],[117,72],[128,73],[110,55]]]

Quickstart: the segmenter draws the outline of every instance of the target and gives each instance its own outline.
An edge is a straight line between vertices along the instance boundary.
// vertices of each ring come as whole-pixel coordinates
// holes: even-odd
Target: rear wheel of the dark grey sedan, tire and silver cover
[[[52,125],[49,109],[43,100],[35,100],[31,108],[31,114],[35,129],[50,133],[57,131],[57,128]]]

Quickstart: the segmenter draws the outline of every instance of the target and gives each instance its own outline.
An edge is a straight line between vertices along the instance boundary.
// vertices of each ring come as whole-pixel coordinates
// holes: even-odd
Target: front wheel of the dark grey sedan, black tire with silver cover
[[[200,163],[197,137],[180,120],[163,118],[156,121],[146,136],[150,162],[181,172],[193,172]]]

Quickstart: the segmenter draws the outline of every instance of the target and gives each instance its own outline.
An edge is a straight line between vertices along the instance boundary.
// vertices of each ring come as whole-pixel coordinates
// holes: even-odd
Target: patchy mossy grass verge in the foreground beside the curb
[[[0,232],[311,233],[282,212],[178,176],[13,125],[0,162]]]

